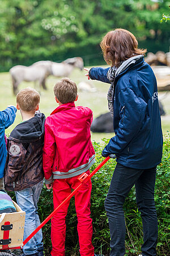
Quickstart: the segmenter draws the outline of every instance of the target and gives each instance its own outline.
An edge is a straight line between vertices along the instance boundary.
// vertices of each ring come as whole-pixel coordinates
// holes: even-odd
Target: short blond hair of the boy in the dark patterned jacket
[[[40,94],[31,87],[24,88],[16,95],[16,103],[23,111],[34,111],[40,103]]]

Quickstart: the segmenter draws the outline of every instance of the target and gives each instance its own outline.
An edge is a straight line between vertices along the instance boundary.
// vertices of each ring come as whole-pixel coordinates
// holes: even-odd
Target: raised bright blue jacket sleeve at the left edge
[[[0,112],[0,122],[1,125],[5,126],[5,129],[7,129],[10,125],[12,125],[12,123],[14,123],[16,111],[17,110],[15,106],[10,106]]]

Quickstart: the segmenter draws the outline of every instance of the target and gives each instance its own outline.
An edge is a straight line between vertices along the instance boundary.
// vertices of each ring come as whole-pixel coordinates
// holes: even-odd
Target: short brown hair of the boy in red
[[[75,101],[77,96],[77,86],[75,82],[65,77],[54,86],[54,94],[62,104]]]

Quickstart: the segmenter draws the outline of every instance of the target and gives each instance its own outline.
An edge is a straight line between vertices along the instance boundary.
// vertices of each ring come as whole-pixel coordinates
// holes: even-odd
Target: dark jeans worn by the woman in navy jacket
[[[105,210],[111,233],[111,256],[125,254],[125,217],[123,205],[135,184],[138,209],[143,223],[142,255],[156,255],[158,221],[154,202],[156,167],[139,170],[116,165],[105,199]]]

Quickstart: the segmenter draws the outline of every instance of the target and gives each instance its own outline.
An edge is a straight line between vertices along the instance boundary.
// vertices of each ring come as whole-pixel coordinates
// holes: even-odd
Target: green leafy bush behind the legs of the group
[[[104,159],[101,156],[101,150],[108,141],[103,139],[103,144],[94,142],[96,151],[96,163],[92,166],[91,171],[95,169]],[[158,166],[156,185],[155,185],[155,204],[158,214],[159,237],[157,252],[158,255],[169,255],[169,174],[170,174],[170,138],[165,138],[163,147],[162,163]],[[107,196],[109,185],[111,183],[112,174],[116,161],[110,159],[93,177],[92,177],[92,193],[91,193],[91,216],[93,219],[93,245],[96,253],[101,251],[105,256],[109,255],[109,226],[108,219],[104,209],[104,200]],[[44,220],[53,211],[53,195],[52,191],[48,191],[45,187],[39,201],[39,216],[41,221]],[[131,189],[125,204],[126,219],[126,254],[138,255],[141,251],[143,242],[142,219],[138,212],[135,202],[135,189]],[[74,198],[70,201],[69,211],[66,217],[67,233],[66,233],[66,255],[79,255],[78,234],[76,232],[76,213],[74,206]],[[50,222],[42,229],[44,234],[45,255],[50,255]]]

